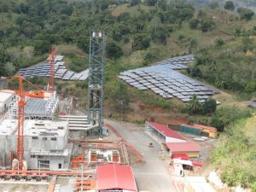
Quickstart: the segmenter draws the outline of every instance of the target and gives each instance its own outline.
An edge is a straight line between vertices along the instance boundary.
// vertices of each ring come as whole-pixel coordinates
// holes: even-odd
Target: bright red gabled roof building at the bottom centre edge
[[[114,189],[137,191],[131,166],[121,166],[119,164],[97,166],[96,190]]]

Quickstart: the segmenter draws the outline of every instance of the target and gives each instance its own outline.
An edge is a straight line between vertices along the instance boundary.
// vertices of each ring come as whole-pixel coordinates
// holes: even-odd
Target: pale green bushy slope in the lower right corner
[[[232,121],[219,138],[212,153],[212,163],[220,170],[221,179],[229,186],[241,185],[256,191],[255,116]]]

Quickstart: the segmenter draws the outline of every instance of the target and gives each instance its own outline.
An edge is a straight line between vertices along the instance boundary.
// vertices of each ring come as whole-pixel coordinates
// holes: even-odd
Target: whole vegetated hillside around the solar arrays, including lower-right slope
[[[104,117],[139,124],[148,119],[216,126],[224,133],[212,154],[213,165],[230,186],[255,189],[255,117],[247,101],[256,94],[256,19],[225,10],[224,1],[215,7],[200,0],[197,5],[182,0],[139,2],[0,0],[0,76],[44,61],[52,46],[65,55],[68,69],[80,72],[88,67],[90,32],[105,32]],[[199,6],[201,2],[207,3]],[[236,8],[242,2],[237,0]],[[246,6],[251,8],[251,2]],[[212,110],[193,113],[184,102],[137,90],[118,79],[125,70],[187,54],[195,55],[195,65],[182,73],[220,90],[213,96],[221,102],[217,109],[214,102]],[[45,85],[49,79],[30,80]],[[56,85],[61,97],[73,97],[74,113],[85,111],[87,81],[56,80]]]

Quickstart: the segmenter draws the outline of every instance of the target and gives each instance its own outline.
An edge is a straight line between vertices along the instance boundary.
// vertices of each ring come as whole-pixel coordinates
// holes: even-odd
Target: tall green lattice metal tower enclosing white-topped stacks
[[[102,135],[103,69],[105,63],[105,36],[102,32],[92,32],[90,37],[88,123],[99,125]]]

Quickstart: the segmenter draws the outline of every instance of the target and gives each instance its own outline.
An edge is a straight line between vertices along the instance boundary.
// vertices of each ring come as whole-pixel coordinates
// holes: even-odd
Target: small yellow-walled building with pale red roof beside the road
[[[166,143],[166,146],[169,148],[171,156],[187,154],[189,157],[199,157],[200,147],[193,142]]]

